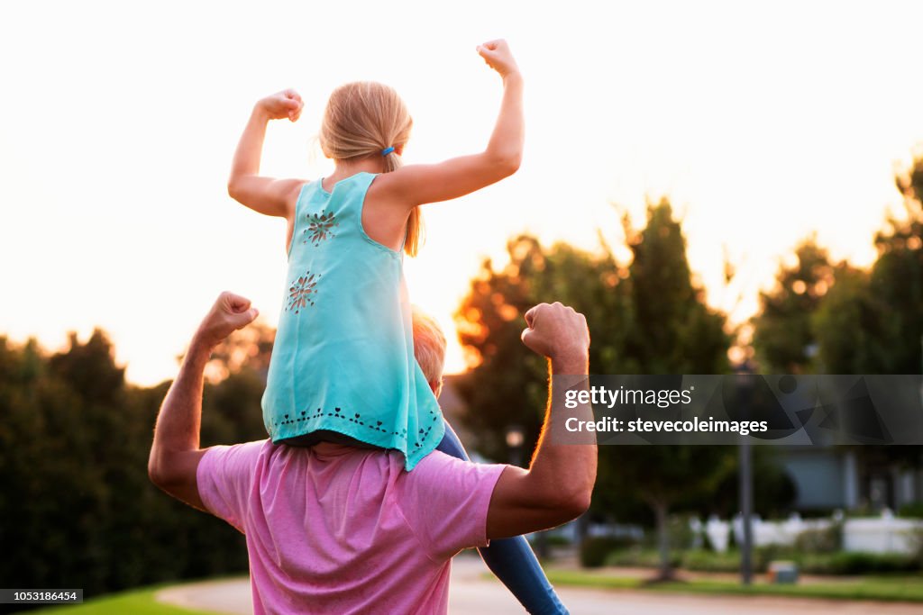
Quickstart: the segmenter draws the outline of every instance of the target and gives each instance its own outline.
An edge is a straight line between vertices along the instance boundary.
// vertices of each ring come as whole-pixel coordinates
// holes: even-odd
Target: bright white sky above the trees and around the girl
[[[526,78],[525,160],[427,207],[414,302],[450,328],[510,235],[594,249],[599,228],[620,239],[613,203],[640,222],[645,198],[669,195],[710,301],[743,290],[743,318],[809,231],[836,257],[873,258],[900,203],[894,165],[923,143],[921,23],[918,2],[3,3],[0,332],[56,349],[101,325],[128,378],[153,384],[221,290],[275,324],[284,223],[225,190],[253,103],[287,87],[306,101],[297,124],[270,127],[270,175],[330,172],[312,137],[354,79],[407,101],[406,162],[471,153],[501,93],[474,47],[497,37]],[[449,368],[462,365],[456,344]]]

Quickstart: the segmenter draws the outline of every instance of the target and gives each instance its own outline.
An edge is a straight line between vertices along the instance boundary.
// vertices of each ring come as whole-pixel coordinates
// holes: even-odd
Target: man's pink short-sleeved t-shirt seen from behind
[[[258,615],[447,613],[451,557],[487,544],[503,468],[266,440],[210,448],[198,492],[246,534]]]

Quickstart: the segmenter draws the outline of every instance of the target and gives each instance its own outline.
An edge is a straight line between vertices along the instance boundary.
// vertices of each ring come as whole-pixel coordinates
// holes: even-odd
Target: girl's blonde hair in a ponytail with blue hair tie
[[[333,90],[320,124],[320,148],[333,160],[384,156],[384,172],[402,165],[398,149],[410,138],[414,120],[393,88],[375,81],[355,81]],[[407,219],[404,252],[415,256],[423,234],[420,207]]]

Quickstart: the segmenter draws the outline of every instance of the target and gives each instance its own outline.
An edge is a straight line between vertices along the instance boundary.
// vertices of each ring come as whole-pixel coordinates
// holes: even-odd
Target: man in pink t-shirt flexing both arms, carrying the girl
[[[408,473],[397,452],[330,443],[200,449],[211,349],[256,316],[246,299],[222,293],[199,325],[163,401],[149,472],[164,491],[246,533],[257,613],[446,613],[455,553],[557,526],[589,505],[595,445],[544,435],[528,470],[436,451]],[[572,416],[591,420],[587,406],[565,417],[556,403],[559,384],[585,386],[585,319],[560,303],[537,305],[525,318],[522,342],[558,376],[545,430]]]

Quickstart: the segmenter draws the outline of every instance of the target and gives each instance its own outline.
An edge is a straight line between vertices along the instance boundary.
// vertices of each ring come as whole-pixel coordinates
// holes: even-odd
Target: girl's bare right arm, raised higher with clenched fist
[[[503,101],[487,148],[471,156],[385,173],[373,184],[383,200],[406,204],[408,209],[448,201],[497,183],[519,169],[525,136],[519,66],[503,40],[485,42],[477,53],[503,77]]]

